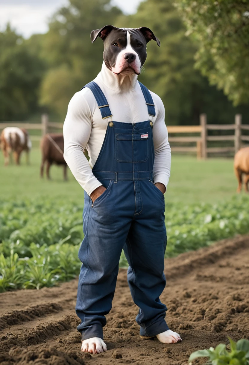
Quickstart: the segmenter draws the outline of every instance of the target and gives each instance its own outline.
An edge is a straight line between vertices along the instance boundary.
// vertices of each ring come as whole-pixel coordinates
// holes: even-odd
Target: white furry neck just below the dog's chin
[[[106,67],[106,64],[103,61],[102,69],[96,78],[101,80],[108,88],[122,93],[134,89],[138,75],[135,73],[131,75],[115,75]]]

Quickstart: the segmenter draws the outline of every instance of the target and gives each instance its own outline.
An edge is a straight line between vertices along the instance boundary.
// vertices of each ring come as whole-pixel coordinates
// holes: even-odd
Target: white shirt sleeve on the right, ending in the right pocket
[[[155,161],[153,166],[153,179],[155,183],[162,183],[167,189],[170,177],[171,151],[168,141],[168,131],[165,125],[165,109],[162,100],[153,95],[158,106],[158,114],[153,126],[153,142]]]

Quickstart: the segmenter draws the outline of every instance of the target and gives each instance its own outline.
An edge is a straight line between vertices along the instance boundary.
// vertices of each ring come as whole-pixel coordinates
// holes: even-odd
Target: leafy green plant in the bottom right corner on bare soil
[[[197,357],[208,357],[206,364],[212,365],[249,365],[249,341],[245,338],[240,339],[237,343],[230,337],[230,351],[226,350],[226,345],[220,343],[216,348],[210,347],[209,350],[198,350],[193,352],[189,357],[189,363]]]

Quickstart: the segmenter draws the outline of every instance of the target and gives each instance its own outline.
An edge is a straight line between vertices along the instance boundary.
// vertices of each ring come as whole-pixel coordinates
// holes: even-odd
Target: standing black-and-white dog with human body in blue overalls
[[[140,308],[141,338],[181,341],[167,326],[167,308],[159,300],[166,284],[164,193],[171,163],[165,110],[137,80],[147,43],[160,42],[147,27],[107,25],[91,32],[92,43],[98,37],[104,42],[102,69],[72,97],[63,128],[64,158],[85,191],[77,328],[82,351],[94,354],[107,350],[102,327],[122,249],[131,295]]]

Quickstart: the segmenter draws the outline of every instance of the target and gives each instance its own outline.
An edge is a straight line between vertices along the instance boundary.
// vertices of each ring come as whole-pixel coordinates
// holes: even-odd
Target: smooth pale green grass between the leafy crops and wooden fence
[[[83,189],[68,169],[69,181],[63,181],[63,169],[52,166],[51,181],[39,176],[40,151],[31,151],[31,164],[25,164],[22,155],[21,166],[4,167],[3,155],[0,153],[0,198],[20,199],[40,196],[59,197],[60,200],[82,199]],[[198,161],[195,157],[172,156],[171,177],[165,195],[166,203],[179,201],[182,203],[216,203],[229,199],[236,193],[237,181],[233,172],[233,160],[210,158]]]

